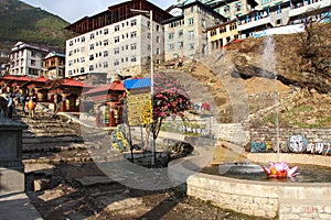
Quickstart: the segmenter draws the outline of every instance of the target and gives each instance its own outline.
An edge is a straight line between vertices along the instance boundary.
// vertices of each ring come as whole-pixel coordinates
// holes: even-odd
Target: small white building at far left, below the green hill
[[[39,77],[43,72],[43,58],[49,48],[17,42],[10,53],[10,75]]]

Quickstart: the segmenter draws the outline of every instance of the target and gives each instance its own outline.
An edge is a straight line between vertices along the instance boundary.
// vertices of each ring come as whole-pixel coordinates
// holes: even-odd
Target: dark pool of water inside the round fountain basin
[[[220,164],[218,166],[205,167],[201,173],[260,182],[331,183],[331,167],[307,164],[295,165],[299,166],[297,172],[300,174],[292,178],[269,178],[263,168],[255,164]],[[290,167],[295,165],[289,164]],[[268,164],[263,166],[268,167]]]

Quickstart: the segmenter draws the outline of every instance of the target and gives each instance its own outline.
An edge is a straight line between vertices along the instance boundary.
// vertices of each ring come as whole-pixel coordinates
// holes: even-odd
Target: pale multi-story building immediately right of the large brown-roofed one
[[[177,57],[193,59],[204,56],[207,47],[206,29],[224,22],[225,18],[200,1],[178,6],[172,10],[179,9],[182,10],[181,15],[163,23],[166,61]]]

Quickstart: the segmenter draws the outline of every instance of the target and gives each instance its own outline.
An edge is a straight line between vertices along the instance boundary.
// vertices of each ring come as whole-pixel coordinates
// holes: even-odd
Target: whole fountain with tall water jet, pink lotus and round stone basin
[[[274,50],[273,37],[266,37],[263,61],[265,63],[264,68],[268,70],[263,73],[263,77],[274,79],[277,88]],[[223,58],[225,56],[221,57],[221,59]],[[234,108],[236,107],[234,106]],[[237,212],[279,219],[331,219],[330,157],[280,153],[278,92],[275,96],[273,109],[276,111],[275,150],[277,153],[246,153],[246,161],[224,163],[212,167],[215,173],[211,169],[207,170],[210,167],[205,167],[199,174],[194,173],[199,170],[195,162],[196,156],[181,158],[175,164],[169,164],[171,167],[169,175],[175,179],[186,179],[189,196],[211,201],[216,206]],[[199,148],[196,150],[199,151]],[[281,165],[281,162],[289,163],[293,168],[282,166],[279,169],[280,173],[284,173],[284,170],[286,170],[286,178],[282,176],[281,178],[269,178],[270,175],[266,175],[264,168],[259,166],[259,164],[267,165],[269,162],[271,162],[270,167],[264,168],[267,174],[276,175],[276,177],[277,168],[275,165]],[[292,178],[292,176],[297,176],[295,170],[298,164],[300,175]],[[273,166],[275,170],[271,168]],[[288,174],[290,174],[289,177]]]

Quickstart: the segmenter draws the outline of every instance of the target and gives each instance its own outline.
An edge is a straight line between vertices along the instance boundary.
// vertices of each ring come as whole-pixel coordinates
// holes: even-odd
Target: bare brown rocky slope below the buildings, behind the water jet
[[[186,61],[174,68],[207,88],[204,96],[199,87],[191,90],[204,100],[212,97],[221,123],[248,120],[250,125],[273,127],[278,114],[282,127],[330,128],[330,28],[322,24],[310,26],[310,33],[247,38],[197,64]]]

